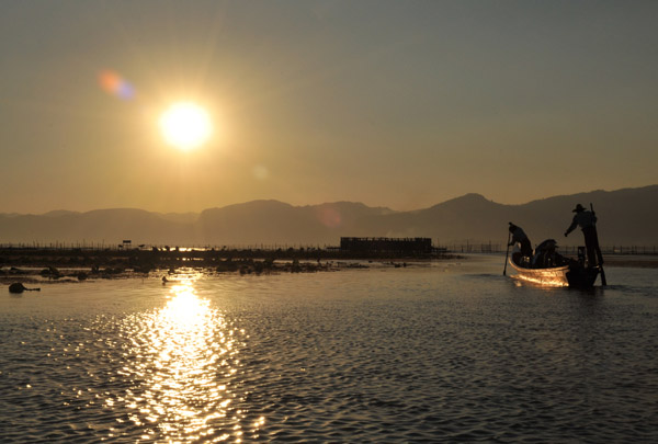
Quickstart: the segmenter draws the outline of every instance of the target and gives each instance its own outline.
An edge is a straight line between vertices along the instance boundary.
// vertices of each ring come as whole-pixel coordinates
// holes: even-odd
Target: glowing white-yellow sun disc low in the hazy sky
[[[160,116],[160,130],[170,145],[190,150],[205,144],[213,124],[208,113],[192,102],[179,102],[169,106]]]

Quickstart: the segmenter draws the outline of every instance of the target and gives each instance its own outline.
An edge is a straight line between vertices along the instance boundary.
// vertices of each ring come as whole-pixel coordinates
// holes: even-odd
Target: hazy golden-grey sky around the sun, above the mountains
[[[657,1],[2,1],[0,213],[655,184],[657,21]],[[181,100],[215,125],[189,152],[158,128]]]

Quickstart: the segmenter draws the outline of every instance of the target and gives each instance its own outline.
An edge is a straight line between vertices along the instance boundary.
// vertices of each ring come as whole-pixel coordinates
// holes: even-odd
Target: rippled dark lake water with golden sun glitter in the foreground
[[[0,441],[658,442],[658,270],[500,257],[0,294]]]

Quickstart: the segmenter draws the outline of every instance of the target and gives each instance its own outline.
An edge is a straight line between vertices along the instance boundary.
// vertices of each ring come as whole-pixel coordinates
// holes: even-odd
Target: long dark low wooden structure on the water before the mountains
[[[419,257],[432,253],[430,238],[340,238],[341,253]]]

